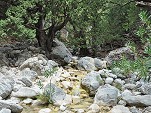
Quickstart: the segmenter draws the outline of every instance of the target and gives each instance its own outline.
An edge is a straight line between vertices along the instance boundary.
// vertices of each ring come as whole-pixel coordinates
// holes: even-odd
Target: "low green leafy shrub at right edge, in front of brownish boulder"
[[[122,70],[125,76],[129,76],[134,72],[137,72],[140,77],[146,78],[149,76],[149,64],[150,60],[148,58],[137,58],[136,60],[128,60],[125,57],[120,61],[115,61],[111,68],[118,67]]]

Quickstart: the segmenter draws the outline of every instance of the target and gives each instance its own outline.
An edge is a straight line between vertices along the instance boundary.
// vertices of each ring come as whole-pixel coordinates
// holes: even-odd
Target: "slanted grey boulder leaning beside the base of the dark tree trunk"
[[[56,60],[61,60],[66,63],[72,61],[72,54],[58,39],[54,39],[53,41],[51,56]]]

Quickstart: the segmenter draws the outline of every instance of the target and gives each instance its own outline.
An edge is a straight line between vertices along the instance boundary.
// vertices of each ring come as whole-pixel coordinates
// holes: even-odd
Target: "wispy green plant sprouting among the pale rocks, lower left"
[[[41,101],[45,102],[45,103],[51,103],[53,104],[51,97],[54,94],[54,89],[51,87],[51,76],[53,76],[53,74],[57,71],[57,68],[52,68],[50,70],[46,70],[44,72],[44,77],[46,77],[47,79],[50,79],[49,82],[49,89],[46,89],[44,91],[44,85],[42,84],[41,80],[38,81],[38,86],[40,89],[43,89],[43,93],[40,94],[39,96],[37,96],[38,99],[40,99]]]

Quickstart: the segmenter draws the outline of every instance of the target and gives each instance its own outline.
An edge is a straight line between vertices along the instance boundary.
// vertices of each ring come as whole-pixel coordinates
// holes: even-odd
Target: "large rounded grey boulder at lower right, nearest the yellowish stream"
[[[114,106],[117,104],[118,94],[118,89],[109,84],[100,86],[94,97],[94,103],[103,106]]]

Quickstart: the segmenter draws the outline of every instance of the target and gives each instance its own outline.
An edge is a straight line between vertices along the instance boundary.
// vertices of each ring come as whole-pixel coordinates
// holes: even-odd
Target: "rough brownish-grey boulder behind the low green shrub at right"
[[[105,60],[111,64],[114,61],[122,59],[125,57],[127,59],[135,59],[134,52],[130,49],[130,47],[122,47],[116,50],[111,51],[106,57]]]

